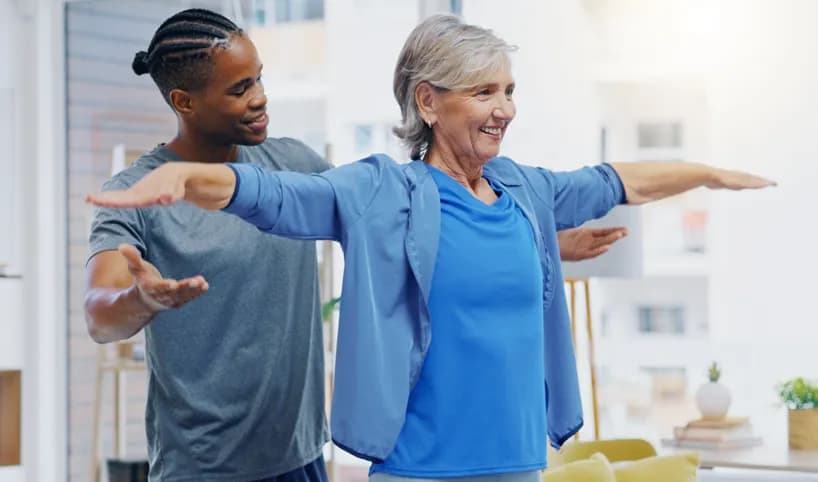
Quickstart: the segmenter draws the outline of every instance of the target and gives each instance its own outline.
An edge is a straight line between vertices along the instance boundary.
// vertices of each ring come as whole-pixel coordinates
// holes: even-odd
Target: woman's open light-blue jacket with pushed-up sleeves
[[[383,154],[312,175],[229,166],[237,183],[225,211],[268,233],[341,243],[332,438],[354,455],[382,461],[395,446],[431,342],[427,301],[440,237],[434,180],[420,161],[398,164]],[[624,188],[604,164],[555,173],[497,157],[483,173],[505,187],[536,234],[547,435],[559,448],[583,420],[557,231],[603,216],[625,201]]]

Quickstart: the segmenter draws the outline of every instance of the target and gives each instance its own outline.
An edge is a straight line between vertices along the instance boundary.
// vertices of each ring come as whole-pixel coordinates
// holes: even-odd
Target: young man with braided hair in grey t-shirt
[[[154,79],[178,133],[106,190],[180,160],[330,167],[298,141],[267,138],[261,62],[221,15],[193,9],[170,17],[133,69]],[[565,232],[561,254],[593,257],[623,235]],[[96,211],[88,330],[107,343],[145,329],[151,481],[326,480],[316,272],[313,243],[262,234],[228,214],[187,204]]]

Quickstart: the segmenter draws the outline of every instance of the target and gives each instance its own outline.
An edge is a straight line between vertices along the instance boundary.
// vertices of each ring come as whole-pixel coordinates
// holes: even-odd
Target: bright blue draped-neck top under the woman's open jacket
[[[541,469],[543,286],[531,225],[501,187],[492,186],[499,198],[486,205],[429,170],[441,206],[432,343],[395,450],[372,471],[467,477]]]

